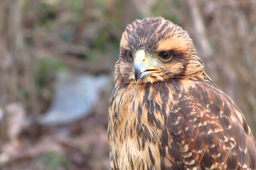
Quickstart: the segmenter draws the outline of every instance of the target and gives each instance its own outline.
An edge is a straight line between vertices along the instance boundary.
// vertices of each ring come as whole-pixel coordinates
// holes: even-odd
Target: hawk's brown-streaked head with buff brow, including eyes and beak
[[[154,83],[203,71],[188,32],[163,17],[135,20],[122,34],[116,80]]]

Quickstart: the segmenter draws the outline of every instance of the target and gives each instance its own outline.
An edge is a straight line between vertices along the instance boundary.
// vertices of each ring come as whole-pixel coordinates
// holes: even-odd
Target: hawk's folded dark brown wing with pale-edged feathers
[[[174,133],[170,150],[181,148],[185,168],[256,168],[252,132],[238,106],[215,86],[196,84],[184,92],[168,128]]]

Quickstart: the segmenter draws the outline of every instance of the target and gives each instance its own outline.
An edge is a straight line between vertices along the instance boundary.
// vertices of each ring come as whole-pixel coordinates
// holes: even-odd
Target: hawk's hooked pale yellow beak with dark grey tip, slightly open
[[[135,80],[144,78],[150,73],[160,72],[161,70],[151,64],[150,60],[146,58],[144,50],[139,50],[136,53],[134,60],[134,76]]]

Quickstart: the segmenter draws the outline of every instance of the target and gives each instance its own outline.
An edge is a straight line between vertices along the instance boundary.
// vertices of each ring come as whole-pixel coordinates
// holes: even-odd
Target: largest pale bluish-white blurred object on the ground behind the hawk
[[[105,75],[75,74],[61,71],[50,109],[40,118],[44,125],[70,123],[90,114],[101,89],[107,85]]]

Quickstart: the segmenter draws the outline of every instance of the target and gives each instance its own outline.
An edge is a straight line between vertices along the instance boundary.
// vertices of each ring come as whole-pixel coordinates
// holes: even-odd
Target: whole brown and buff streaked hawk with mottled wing
[[[108,133],[112,169],[256,169],[242,112],[205,74],[188,32],[162,17],[122,34]]]

